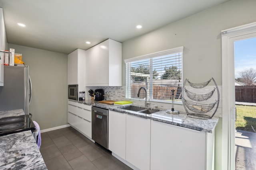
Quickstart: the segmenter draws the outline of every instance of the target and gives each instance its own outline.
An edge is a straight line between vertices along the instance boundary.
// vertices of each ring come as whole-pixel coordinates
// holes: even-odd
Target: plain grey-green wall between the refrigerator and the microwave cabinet
[[[8,44],[29,66],[32,81],[30,113],[40,129],[68,124],[68,55]]]

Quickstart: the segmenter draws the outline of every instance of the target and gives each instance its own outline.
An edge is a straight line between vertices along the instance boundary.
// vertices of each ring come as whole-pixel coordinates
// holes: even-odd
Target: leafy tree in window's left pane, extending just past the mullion
[[[131,67],[131,72],[135,72],[135,73],[142,73],[142,74],[150,74],[150,70],[149,70],[149,65],[146,64],[140,64],[139,67]],[[156,79],[156,77],[158,76],[158,72],[155,70],[153,70],[153,79]],[[134,79],[134,81],[145,81],[146,77],[145,76],[132,76],[132,78]]]

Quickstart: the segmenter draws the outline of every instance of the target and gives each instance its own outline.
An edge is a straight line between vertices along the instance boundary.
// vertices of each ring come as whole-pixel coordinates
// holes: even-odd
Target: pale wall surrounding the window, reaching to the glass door
[[[122,43],[124,59],[184,46],[183,79],[194,83],[213,77],[222,85],[221,31],[256,21],[256,0],[231,0]],[[222,113],[225,114],[225,113]],[[222,119],[216,127],[215,169],[222,166]],[[226,164],[227,162],[224,162]]]

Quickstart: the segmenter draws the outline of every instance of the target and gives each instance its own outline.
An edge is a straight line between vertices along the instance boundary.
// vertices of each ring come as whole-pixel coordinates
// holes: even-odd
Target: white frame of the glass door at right
[[[222,31],[222,169],[235,169],[234,42],[256,37],[256,23]]]

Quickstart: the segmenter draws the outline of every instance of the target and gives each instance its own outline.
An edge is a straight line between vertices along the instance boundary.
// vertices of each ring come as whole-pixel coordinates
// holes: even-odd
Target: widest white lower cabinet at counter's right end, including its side
[[[151,120],[150,170],[213,169],[213,136]]]

